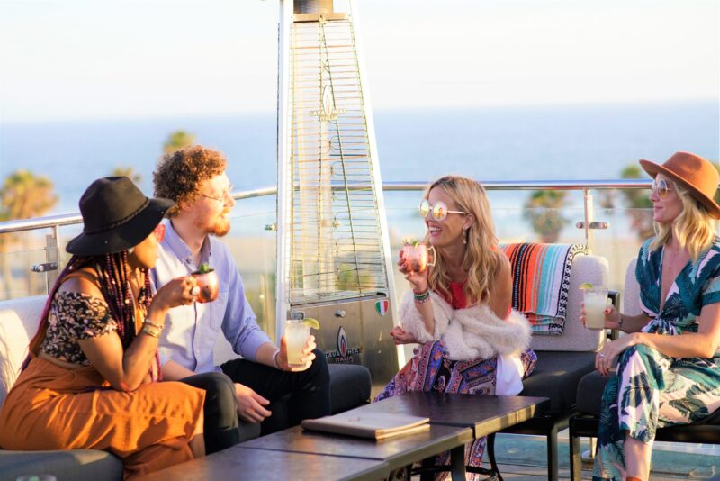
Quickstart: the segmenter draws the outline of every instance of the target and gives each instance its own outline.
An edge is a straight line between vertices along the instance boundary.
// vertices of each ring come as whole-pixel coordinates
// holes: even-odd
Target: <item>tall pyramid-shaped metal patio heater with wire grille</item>
[[[352,6],[352,5],[349,5]],[[396,313],[373,116],[352,9],[281,0],[277,335],[313,317],[329,362],[397,371]]]

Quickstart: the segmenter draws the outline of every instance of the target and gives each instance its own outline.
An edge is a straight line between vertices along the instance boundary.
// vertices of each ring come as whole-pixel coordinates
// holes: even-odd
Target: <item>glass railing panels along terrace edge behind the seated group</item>
[[[486,182],[495,230],[501,242],[580,242],[608,259],[611,288],[621,290],[627,263],[642,241],[637,225],[652,226],[652,211],[608,206],[620,198],[617,187],[649,188],[650,181],[589,182]],[[425,225],[417,205],[423,182],[389,182],[384,185],[391,249],[397,253],[406,239],[422,239]],[[536,192],[563,192],[556,206],[529,207]],[[649,191],[648,191],[649,192]],[[238,204],[232,229],[225,238],[237,260],[247,298],[258,322],[268,332],[275,325],[275,187],[234,194]],[[603,204],[606,204],[605,206]],[[640,220],[640,221],[639,221]],[[607,228],[584,228],[583,222]],[[47,294],[58,275],[55,268],[67,262],[65,244],[81,230],[77,214],[0,222],[0,300]],[[649,222],[649,223],[648,223]],[[592,224],[591,224],[592,225]],[[580,226],[580,227],[579,227]],[[600,225],[605,227],[605,225]],[[396,285],[404,286],[397,275]],[[402,281],[402,282],[401,282]],[[401,289],[399,289],[401,290]],[[398,295],[400,293],[397,293]]]

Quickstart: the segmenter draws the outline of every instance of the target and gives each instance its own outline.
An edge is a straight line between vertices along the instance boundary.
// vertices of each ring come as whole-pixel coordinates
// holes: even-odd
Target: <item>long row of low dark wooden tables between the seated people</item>
[[[544,397],[449,395],[413,392],[353,411],[405,413],[430,418],[430,429],[385,440],[365,440],[300,426],[248,440],[230,449],[166,468],[148,480],[381,479],[392,469],[432,461],[450,451],[454,480],[464,480],[464,446],[474,439],[530,419],[544,411]],[[426,463],[428,464],[428,463]]]

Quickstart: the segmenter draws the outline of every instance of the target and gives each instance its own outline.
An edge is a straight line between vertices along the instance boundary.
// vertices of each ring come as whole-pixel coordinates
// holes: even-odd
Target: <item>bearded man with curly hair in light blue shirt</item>
[[[262,422],[265,434],[287,427],[287,421],[275,420],[267,409],[287,394],[292,399],[290,425],[330,413],[328,364],[311,336],[303,366],[290,367],[284,336],[278,349],[257,325],[235,261],[218,240],[230,230],[229,214],[235,205],[226,164],[219,151],[196,145],[167,154],[153,173],[155,195],[175,201],[167,213],[166,237],[153,272],[155,286],[187,276],[205,262],[220,279],[215,301],[177,308],[168,315],[160,356],[167,380],[225,373],[234,383],[234,393],[218,395],[218,409],[226,417],[235,417],[237,411],[244,422]],[[220,331],[242,358],[215,366],[213,348]],[[237,426],[237,417],[235,422]]]

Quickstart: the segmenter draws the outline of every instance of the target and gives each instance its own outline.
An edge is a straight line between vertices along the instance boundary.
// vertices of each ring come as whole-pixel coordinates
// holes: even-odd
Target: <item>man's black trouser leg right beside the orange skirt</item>
[[[205,391],[205,452],[212,454],[238,444],[238,398],[232,380],[221,372],[206,372],[180,382]]]

